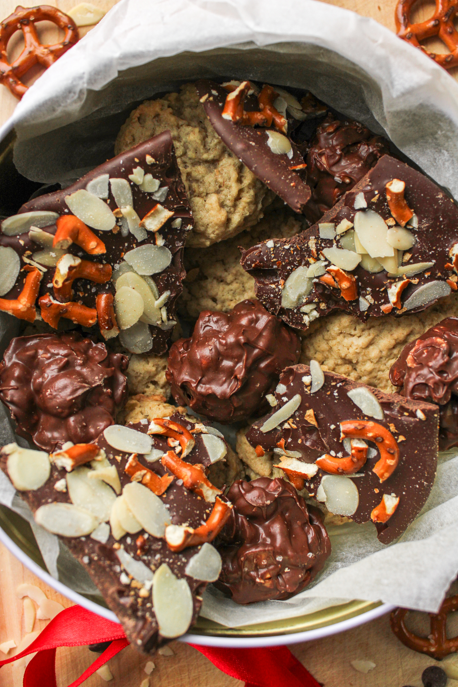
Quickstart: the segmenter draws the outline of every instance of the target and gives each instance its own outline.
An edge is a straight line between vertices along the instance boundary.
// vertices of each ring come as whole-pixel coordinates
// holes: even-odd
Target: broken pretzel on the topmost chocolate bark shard
[[[257,96],[257,102],[260,106],[259,111],[244,111],[244,100],[251,91],[251,84],[249,81],[242,81],[240,86],[228,93],[224,109],[222,110],[222,117],[225,120],[231,120],[236,124],[244,124],[248,126],[271,126],[272,122],[276,128],[283,133],[286,133],[286,119],[275,109],[273,102],[277,98],[277,93],[271,86],[265,85]]]

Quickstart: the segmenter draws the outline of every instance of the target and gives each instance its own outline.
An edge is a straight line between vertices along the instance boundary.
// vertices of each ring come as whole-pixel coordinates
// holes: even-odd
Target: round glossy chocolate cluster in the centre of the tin
[[[266,394],[286,365],[299,360],[300,339],[257,300],[229,313],[204,311],[189,339],[170,348],[165,372],[176,403],[218,423],[265,413]]]

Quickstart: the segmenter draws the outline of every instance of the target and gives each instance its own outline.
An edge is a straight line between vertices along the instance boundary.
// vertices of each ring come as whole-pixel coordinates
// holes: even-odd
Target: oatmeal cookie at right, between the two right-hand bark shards
[[[369,317],[360,322],[354,315],[339,313],[317,319],[302,338],[300,363],[317,360],[325,370],[353,381],[395,392],[389,381],[391,365],[402,348],[420,337],[444,317],[458,315],[458,295],[450,295],[417,315],[395,318]]]

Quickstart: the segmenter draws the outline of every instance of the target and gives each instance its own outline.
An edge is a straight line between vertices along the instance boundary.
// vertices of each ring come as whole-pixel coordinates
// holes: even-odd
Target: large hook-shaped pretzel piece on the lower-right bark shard
[[[386,427],[372,420],[345,420],[341,423],[341,441],[347,437],[369,439],[376,444],[380,460],[376,462],[372,471],[379,477],[380,482],[385,482],[396,470],[399,462],[398,442]]]

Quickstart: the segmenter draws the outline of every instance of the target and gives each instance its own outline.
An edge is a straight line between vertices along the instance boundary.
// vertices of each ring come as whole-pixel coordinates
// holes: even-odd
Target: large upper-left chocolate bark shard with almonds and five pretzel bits
[[[98,324],[132,352],[165,352],[192,229],[170,131],[0,226],[0,310],[33,322],[37,306],[51,327]]]

